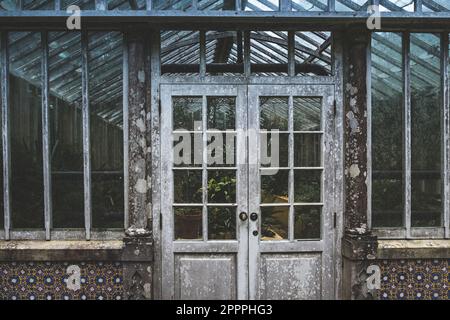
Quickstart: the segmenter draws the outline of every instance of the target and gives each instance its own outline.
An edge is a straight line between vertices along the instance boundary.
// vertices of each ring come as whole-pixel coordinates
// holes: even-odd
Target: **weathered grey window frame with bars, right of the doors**
[[[450,75],[449,75],[449,32],[394,32],[402,36],[402,154],[403,154],[403,227],[372,227],[372,66],[371,45],[367,53],[368,82],[368,223],[369,228],[382,239],[450,239]],[[440,120],[441,120],[441,227],[411,226],[411,70],[410,70],[410,35],[413,33],[433,33],[440,36]]]

